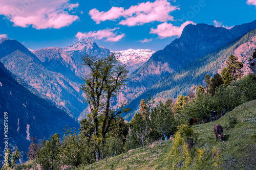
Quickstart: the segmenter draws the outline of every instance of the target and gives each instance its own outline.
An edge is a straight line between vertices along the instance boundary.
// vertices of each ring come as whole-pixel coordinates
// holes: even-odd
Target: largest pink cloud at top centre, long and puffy
[[[126,10],[122,7],[112,7],[106,12],[99,12],[97,9],[92,9],[89,14],[96,23],[123,17],[119,22],[120,25],[137,26],[152,21],[173,21],[174,17],[169,15],[169,13],[177,9],[179,10],[177,6],[170,5],[167,0],[157,0],[153,3],[140,3]]]

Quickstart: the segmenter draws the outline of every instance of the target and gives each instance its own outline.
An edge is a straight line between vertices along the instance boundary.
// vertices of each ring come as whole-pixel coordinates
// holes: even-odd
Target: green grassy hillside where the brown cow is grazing
[[[222,125],[225,142],[215,141],[215,124]],[[204,149],[204,154],[201,166],[197,166],[197,157],[192,154],[188,169],[256,169],[256,100],[238,106],[213,123],[193,128],[198,133],[196,147]],[[91,168],[88,165],[78,169],[178,169],[179,166],[179,169],[186,169],[182,166],[182,149],[174,160],[170,156],[172,147],[173,140],[164,141],[161,145],[157,141],[151,146],[101,160]],[[214,151],[219,158],[214,156]]]

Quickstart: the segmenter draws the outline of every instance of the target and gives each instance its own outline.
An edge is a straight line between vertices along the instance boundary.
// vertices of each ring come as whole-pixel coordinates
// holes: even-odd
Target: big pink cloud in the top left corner
[[[71,25],[79,17],[69,14],[78,3],[69,0],[20,0],[0,1],[0,15],[5,15],[15,27],[59,29]]]

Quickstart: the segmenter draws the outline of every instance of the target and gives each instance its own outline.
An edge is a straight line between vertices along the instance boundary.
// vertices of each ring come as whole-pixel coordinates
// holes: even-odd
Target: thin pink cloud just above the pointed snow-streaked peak
[[[105,41],[116,42],[125,36],[125,34],[117,35],[116,32],[114,33],[114,31],[117,29],[119,29],[119,28],[99,30],[97,32],[90,31],[88,33],[78,32],[76,34],[76,38],[78,38],[78,40],[81,40],[83,38],[94,38],[94,39],[99,39],[99,40],[105,39]]]

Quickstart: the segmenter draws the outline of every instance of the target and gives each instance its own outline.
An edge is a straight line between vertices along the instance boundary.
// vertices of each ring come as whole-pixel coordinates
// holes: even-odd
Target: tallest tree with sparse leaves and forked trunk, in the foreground
[[[81,58],[82,65],[89,67],[88,75],[82,78],[85,85],[81,90],[85,93],[87,102],[91,109],[94,124],[95,159],[99,160],[99,145],[104,144],[106,133],[108,133],[114,117],[122,112],[124,104],[118,111],[111,108],[111,99],[124,86],[129,72],[126,65],[121,64],[114,54],[106,58],[96,58],[89,55]],[[99,126],[101,117],[101,126]],[[100,128],[100,130],[99,130]]]

